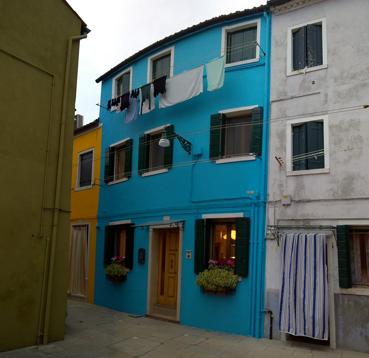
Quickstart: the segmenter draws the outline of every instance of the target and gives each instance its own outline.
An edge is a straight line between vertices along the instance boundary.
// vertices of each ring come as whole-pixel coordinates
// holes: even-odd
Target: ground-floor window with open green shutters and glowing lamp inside
[[[235,261],[235,274],[247,276],[250,218],[195,220],[194,272],[208,267],[208,261]]]

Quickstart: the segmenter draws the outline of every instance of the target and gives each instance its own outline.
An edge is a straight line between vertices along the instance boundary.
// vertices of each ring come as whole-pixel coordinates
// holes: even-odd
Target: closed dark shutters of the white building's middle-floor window
[[[324,124],[306,122],[292,127],[293,170],[324,168]]]

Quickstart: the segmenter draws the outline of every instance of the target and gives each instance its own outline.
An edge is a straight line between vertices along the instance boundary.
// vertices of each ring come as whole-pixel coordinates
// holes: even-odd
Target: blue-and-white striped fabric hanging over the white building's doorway
[[[280,234],[279,330],[328,339],[325,234]]]

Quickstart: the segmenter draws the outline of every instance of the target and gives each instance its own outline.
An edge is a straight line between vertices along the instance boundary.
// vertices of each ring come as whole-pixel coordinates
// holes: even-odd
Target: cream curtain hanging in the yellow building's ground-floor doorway
[[[69,241],[68,293],[86,295],[87,226],[73,226]]]

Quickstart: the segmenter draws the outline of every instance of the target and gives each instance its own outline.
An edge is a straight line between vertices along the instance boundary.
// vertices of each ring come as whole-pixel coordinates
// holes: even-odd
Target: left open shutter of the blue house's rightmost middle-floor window
[[[210,116],[210,147],[209,159],[224,157],[225,150],[225,114],[217,113]]]

